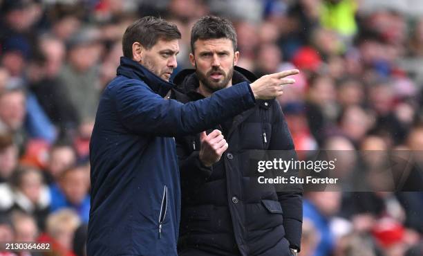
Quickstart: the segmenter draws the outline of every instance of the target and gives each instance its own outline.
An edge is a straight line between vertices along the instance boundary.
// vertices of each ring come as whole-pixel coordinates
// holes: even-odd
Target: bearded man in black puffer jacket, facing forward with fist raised
[[[238,82],[255,80],[238,61],[236,33],[227,19],[203,17],[191,30],[191,64],[181,71],[171,97],[186,103]],[[236,85],[235,85],[236,86]],[[276,100],[214,130],[176,138],[182,212],[180,255],[295,255],[300,249],[302,192],[251,187],[252,150],[293,150]]]

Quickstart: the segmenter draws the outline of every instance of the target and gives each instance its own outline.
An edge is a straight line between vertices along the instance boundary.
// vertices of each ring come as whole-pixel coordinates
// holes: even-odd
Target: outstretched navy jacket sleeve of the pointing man
[[[247,82],[187,104],[164,100],[138,82],[118,86],[114,95],[118,116],[126,129],[134,134],[163,137],[198,133],[255,104]]]

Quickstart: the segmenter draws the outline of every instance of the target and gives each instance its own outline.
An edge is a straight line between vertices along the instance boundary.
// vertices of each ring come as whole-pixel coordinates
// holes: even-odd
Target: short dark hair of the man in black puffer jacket
[[[198,39],[220,38],[230,39],[234,46],[234,51],[236,50],[236,31],[231,21],[216,16],[201,17],[191,29],[191,52],[194,53],[194,43]]]

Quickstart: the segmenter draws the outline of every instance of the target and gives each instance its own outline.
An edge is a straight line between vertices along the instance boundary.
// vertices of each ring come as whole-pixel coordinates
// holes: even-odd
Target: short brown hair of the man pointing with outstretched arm
[[[180,31],[175,24],[164,19],[153,16],[142,17],[126,28],[122,38],[123,54],[125,57],[132,58],[133,43],[139,42],[150,49],[159,39],[167,41],[180,39]]]

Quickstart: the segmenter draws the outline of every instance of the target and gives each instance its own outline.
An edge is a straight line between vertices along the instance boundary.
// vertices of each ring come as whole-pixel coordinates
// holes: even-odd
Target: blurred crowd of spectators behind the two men
[[[190,28],[209,14],[234,23],[238,66],[258,76],[299,68],[278,99],[298,150],[423,150],[422,1],[0,6],[0,241],[53,245],[48,253],[0,255],[84,255],[95,111],[115,77],[124,29],[144,15],[182,33],[173,75],[192,68]],[[302,256],[423,255],[423,192],[306,192],[303,214]]]

